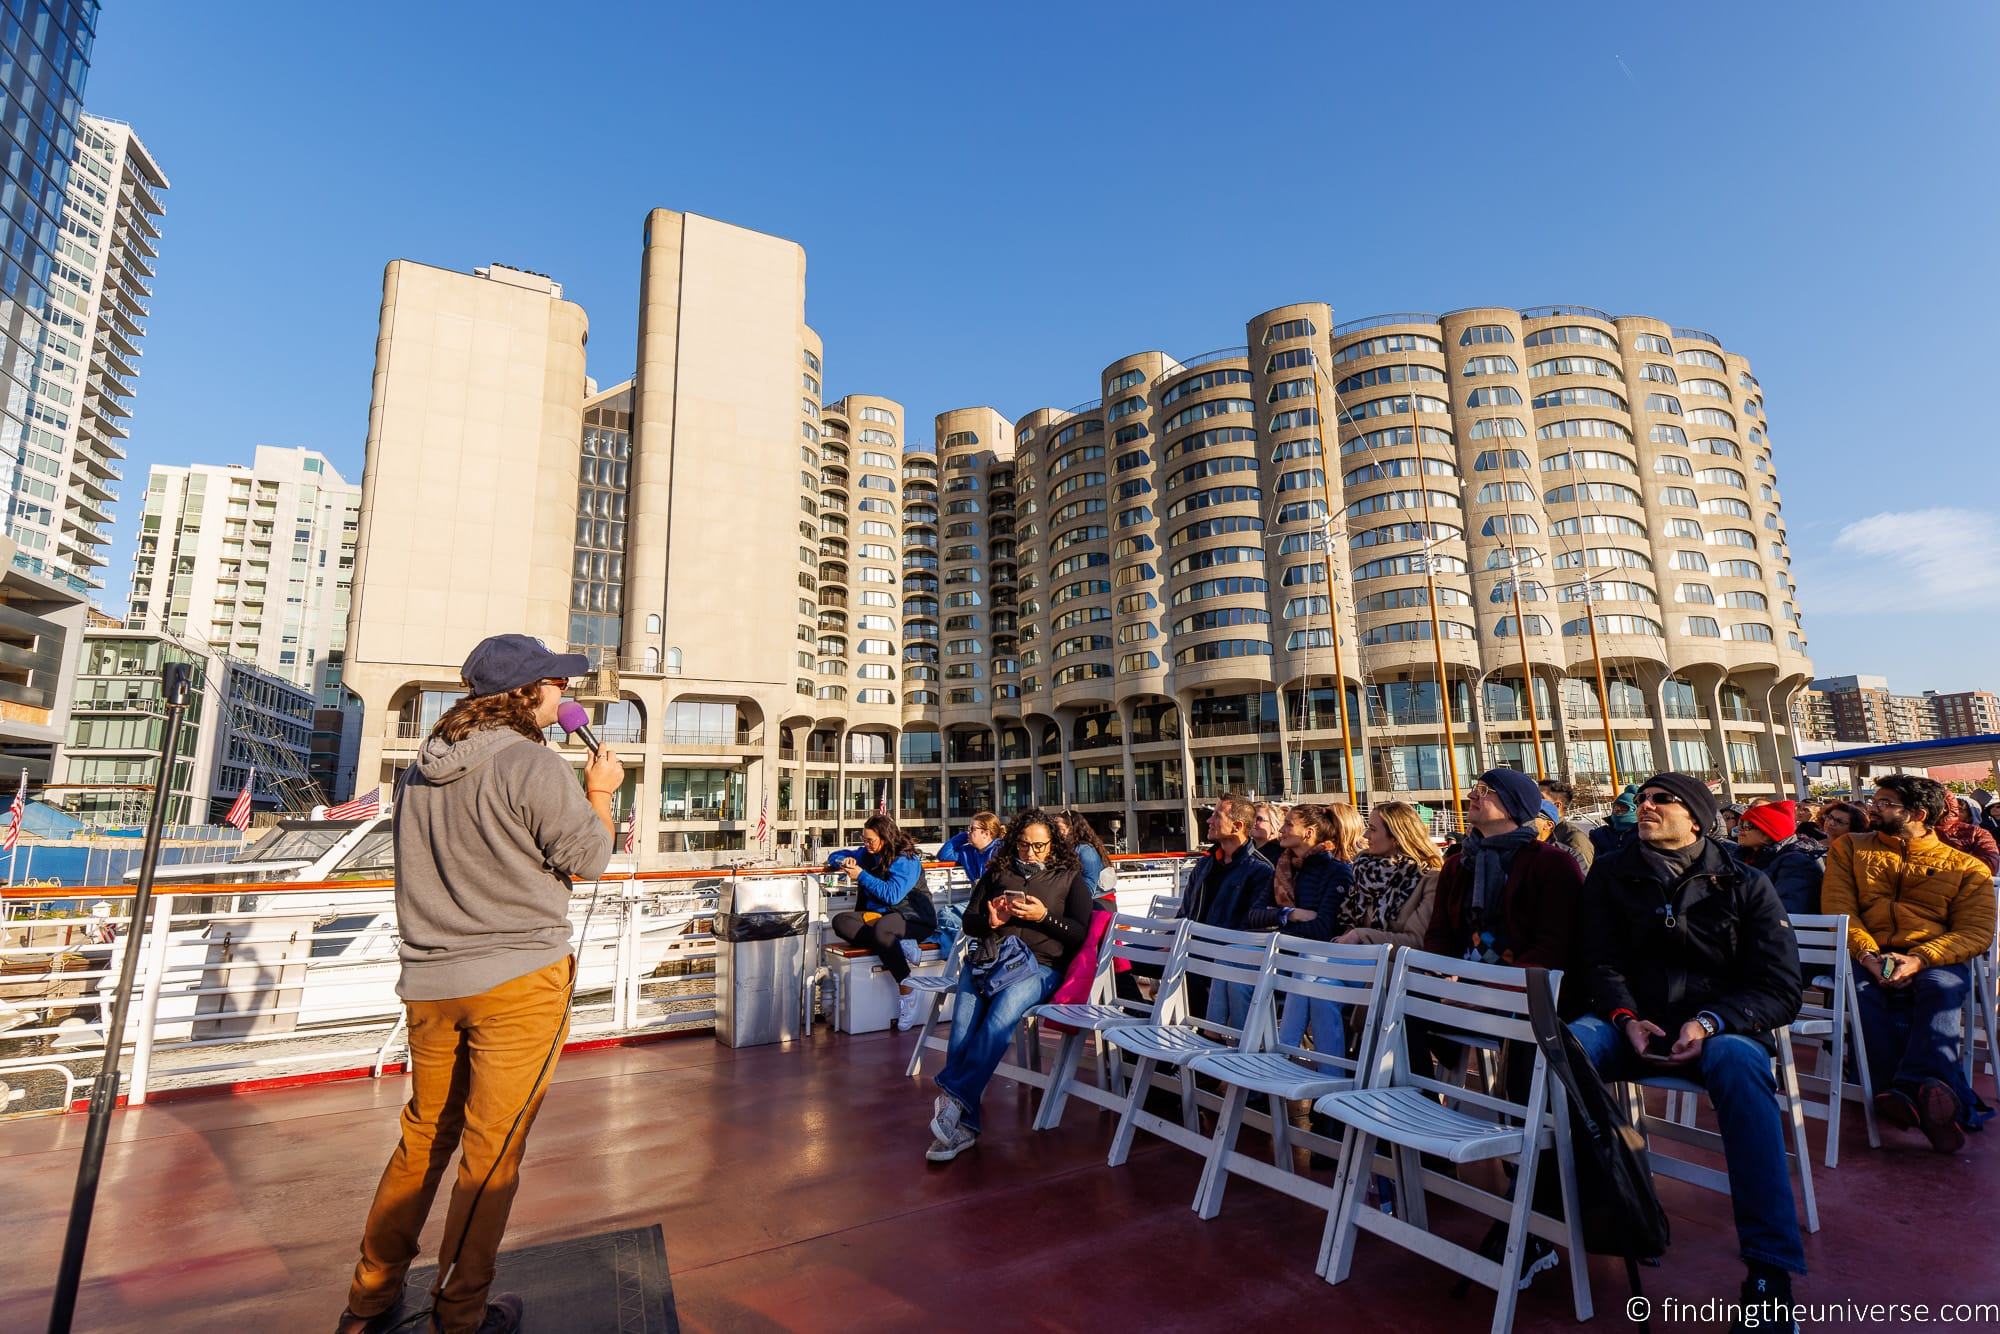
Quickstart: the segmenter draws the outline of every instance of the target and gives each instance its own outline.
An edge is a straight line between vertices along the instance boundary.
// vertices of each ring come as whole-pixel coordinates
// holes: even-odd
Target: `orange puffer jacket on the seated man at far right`
[[[1848,834],[1826,852],[1820,912],[1848,914],[1848,950],[1914,954],[1926,966],[1978,958],[1994,938],[1994,878],[1936,834]]]

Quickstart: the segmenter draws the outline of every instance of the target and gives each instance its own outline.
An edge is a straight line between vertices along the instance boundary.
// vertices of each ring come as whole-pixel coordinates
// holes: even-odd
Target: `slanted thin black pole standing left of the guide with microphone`
[[[70,1198],[70,1228],[62,1236],[62,1268],[56,1270],[56,1300],[48,1308],[48,1334],[70,1334],[76,1316],[76,1288],[84,1278],[84,1248],[90,1246],[90,1216],[98,1206],[98,1172],[104,1168],[104,1140],[118,1106],[118,1058],[124,1054],[126,1010],[132,1008],[132,980],[138,974],[146,916],[152,910],[152,872],[160,864],[160,834],[166,828],[166,798],[174,788],[174,754],[180,724],[188,714],[188,686],[194,668],[168,662],[160,668],[160,698],[166,702],[166,734],[160,738],[160,772],[152,784],[152,814],[146,818],[146,848],[138,862],[138,890],[132,894],[132,926],[126,932],[118,992],[104,1026],[104,1068],[90,1088],[90,1126],[84,1130],[84,1158],[76,1164],[76,1194]]]

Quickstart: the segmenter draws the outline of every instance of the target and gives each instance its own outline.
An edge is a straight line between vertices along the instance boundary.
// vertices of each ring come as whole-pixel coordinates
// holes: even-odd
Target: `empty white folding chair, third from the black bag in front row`
[[[1118,1130],[1112,1134],[1110,1166],[1120,1166],[1132,1152],[1140,1130],[1180,1144],[1196,1154],[1208,1148],[1202,1136],[1200,1104],[1194,1100],[1196,1056],[1228,1050],[1264,1050],[1270,1018],[1270,958],[1278,948],[1276,932],[1232,932],[1220,926],[1188,922],[1180,934],[1178,966],[1160,982],[1158,1016],[1152,1024],[1120,1024],[1104,1032],[1104,1042],[1138,1058],[1126,1088]],[[1208,978],[1210,994],[1224,986],[1250,988],[1250,1012],[1242,1028],[1188,1010],[1188,978]],[[1180,1076],[1180,1124],[1146,1110],[1154,1070],[1174,1070]],[[1274,1122],[1282,1122],[1276,1116]]]

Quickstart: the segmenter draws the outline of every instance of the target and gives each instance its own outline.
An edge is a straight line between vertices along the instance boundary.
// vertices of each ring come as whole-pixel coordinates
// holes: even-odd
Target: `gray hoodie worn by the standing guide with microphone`
[[[520,732],[424,742],[396,792],[404,1000],[478,996],[570,952],[570,880],[612,836],[570,762]]]

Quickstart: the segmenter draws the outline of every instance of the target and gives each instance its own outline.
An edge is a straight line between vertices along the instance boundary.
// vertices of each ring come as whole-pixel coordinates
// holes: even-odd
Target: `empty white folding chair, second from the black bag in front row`
[[[1374,1052],[1376,1018],[1380,1016],[1382,992],[1388,986],[1388,952],[1386,944],[1324,944],[1298,936],[1278,936],[1270,958],[1270,1014],[1274,1020],[1282,1020],[1284,1006],[1292,996],[1298,998],[1300,1006],[1312,1000],[1356,1006],[1364,1016],[1360,1048],[1352,1058],[1348,1056],[1346,1032],[1340,1032],[1338,1038],[1314,1032],[1312,1040],[1326,1044],[1324,1050],[1284,1042],[1282,1022],[1274,1022],[1276,1032],[1266,1050],[1214,1052],[1188,1062],[1194,1074],[1206,1074],[1226,1088],[1222,1112],[1216,1116],[1216,1132],[1208,1140],[1208,1168],[1194,1192],[1196,1214],[1214,1218],[1222,1212],[1222,1192],[1228,1188],[1230,1172],[1282,1190],[1294,1200],[1332,1210],[1334,1188],[1292,1170],[1292,1136],[1298,1134],[1302,1146],[1328,1156],[1338,1154],[1340,1144],[1310,1130],[1294,1132],[1286,1120],[1284,1104],[1360,1084]],[[1264,1094],[1270,1100],[1268,1164],[1236,1150],[1236,1136],[1246,1114],[1254,1118],[1246,1110],[1250,1094]]]

